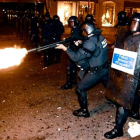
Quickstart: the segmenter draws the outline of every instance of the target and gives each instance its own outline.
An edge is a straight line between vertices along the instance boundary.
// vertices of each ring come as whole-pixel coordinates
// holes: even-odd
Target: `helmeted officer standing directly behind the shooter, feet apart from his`
[[[70,36],[70,49],[73,51],[77,51],[79,47],[74,44],[74,40],[81,40],[82,34],[79,26],[79,21],[76,16],[71,16],[68,19],[69,27],[71,27],[71,36]],[[68,66],[67,66],[67,78],[66,83],[61,86],[62,90],[67,90],[73,88],[77,84],[77,65],[73,60],[69,58]]]

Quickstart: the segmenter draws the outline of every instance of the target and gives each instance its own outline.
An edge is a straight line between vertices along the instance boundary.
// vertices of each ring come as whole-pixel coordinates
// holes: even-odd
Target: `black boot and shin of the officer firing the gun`
[[[86,92],[80,91],[80,89],[77,87],[76,93],[77,93],[78,101],[79,101],[81,108],[78,110],[74,110],[73,115],[77,116],[77,117],[85,117],[85,118],[90,117],[90,113],[89,113],[88,107],[87,107],[88,105],[87,105]]]

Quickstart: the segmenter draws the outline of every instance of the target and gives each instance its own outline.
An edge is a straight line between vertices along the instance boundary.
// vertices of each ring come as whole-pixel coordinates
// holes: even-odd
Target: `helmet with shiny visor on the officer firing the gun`
[[[81,30],[82,30],[82,34],[86,37],[88,35],[90,35],[91,33],[93,33],[93,31],[95,30],[95,24],[93,22],[89,22],[89,21],[84,21],[81,24]]]

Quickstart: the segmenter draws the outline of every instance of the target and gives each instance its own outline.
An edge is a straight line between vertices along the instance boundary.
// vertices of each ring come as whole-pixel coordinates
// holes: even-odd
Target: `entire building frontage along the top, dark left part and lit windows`
[[[72,15],[82,22],[87,14],[93,14],[99,27],[113,27],[118,12],[123,10],[129,17],[140,12],[140,0],[0,0],[0,18],[11,18],[25,12],[42,15],[49,11],[51,16],[59,15],[64,25]]]

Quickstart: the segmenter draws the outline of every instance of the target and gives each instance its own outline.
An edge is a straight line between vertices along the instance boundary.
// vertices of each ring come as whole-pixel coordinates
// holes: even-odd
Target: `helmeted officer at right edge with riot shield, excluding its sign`
[[[134,75],[111,69],[106,98],[116,104],[115,127],[104,134],[107,139],[123,136],[123,126],[128,116],[140,119],[140,13],[133,15],[132,34],[124,42],[124,50],[137,52]]]

